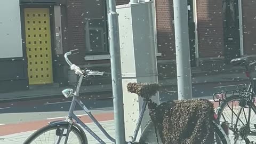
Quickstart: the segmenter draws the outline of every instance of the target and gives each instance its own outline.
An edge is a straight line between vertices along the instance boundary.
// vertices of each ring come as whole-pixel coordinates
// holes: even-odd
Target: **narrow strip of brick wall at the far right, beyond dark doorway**
[[[244,54],[256,54],[256,1],[242,1]]]

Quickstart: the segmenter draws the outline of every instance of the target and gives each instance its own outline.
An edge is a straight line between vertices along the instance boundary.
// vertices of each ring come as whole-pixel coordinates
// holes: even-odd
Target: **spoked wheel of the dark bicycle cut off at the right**
[[[247,106],[244,107],[239,95],[231,95],[218,108],[218,120],[228,125],[231,143],[256,142],[256,107],[252,102],[247,103]]]

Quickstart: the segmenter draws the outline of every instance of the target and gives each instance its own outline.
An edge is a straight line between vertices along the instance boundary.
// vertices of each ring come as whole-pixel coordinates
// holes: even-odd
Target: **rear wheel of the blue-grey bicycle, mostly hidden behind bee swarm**
[[[221,131],[221,127],[218,127],[218,121],[214,120],[212,122],[213,124],[213,130],[214,133],[218,135],[219,141],[216,142],[217,144],[230,144],[230,141],[225,134],[224,131]],[[161,138],[159,137],[159,131],[157,132],[157,135],[154,130],[154,124],[150,121],[146,126],[143,132],[141,133],[141,137],[139,140],[140,143],[159,143],[163,144]],[[209,143],[205,143],[209,144]]]

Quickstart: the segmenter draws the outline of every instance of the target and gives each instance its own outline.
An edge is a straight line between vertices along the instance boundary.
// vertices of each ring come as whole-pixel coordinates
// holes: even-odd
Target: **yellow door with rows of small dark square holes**
[[[53,83],[49,9],[25,9],[25,28],[29,84]]]

